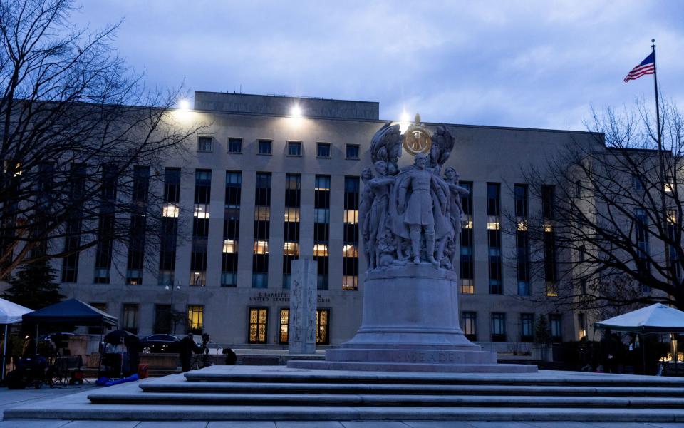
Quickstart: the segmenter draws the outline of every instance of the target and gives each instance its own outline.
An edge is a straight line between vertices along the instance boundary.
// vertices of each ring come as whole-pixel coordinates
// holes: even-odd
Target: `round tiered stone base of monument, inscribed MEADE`
[[[415,372],[537,372],[534,365],[497,365],[496,352],[467,340],[459,326],[458,276],[430,263],[366,274],[363,320],[356,335],[326,351],[325,361],[288,367]]]

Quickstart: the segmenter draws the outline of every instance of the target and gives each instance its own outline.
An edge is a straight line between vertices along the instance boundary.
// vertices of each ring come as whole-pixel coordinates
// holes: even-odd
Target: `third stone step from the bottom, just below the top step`
[[[144,392],[269,394],[477,394],[577,397],[684,397],[682,387],[574,387],[519,385],[321,384],[254,382],[142,382]]]

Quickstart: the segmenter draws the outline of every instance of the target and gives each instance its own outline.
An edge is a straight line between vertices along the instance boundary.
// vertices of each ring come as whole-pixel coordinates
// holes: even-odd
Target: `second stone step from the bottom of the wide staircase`
[[[480,395],[380,395],[380,394],[216,394],[157,393],[88,395],[93,404],[182,404],[246,406],[373,406],[373,407],[601,407],[675,408],[684,398],[670,397],[512,397]]]

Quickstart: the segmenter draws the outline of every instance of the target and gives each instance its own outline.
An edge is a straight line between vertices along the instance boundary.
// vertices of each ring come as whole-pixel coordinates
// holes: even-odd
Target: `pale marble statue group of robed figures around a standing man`
[[[440,176],[455,140],[444,126],[430,133],[417,122],[408,132],[423,138],[423,146],[410,144],[413,165],[399,168],[405,135],[398,125],[385,124],[371,141],[375,177],[363,171],[364,189],[359,203],[368,270],[406,263],[431,263],[453,270],[457,253],[464,191],[454,181],[453,168]],[[445,255],[447,257],[445,257]]]

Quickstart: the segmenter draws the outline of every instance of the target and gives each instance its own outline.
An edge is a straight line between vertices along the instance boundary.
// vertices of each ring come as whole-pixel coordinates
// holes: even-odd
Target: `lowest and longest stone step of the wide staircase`
[[[684,422],[682,409],[569,409],[554,407],[309,407],[41,404],[6,409],[4,419],[129,421],[565,421]],[[93,424],[93,426],[97,426]]]

